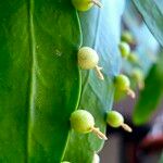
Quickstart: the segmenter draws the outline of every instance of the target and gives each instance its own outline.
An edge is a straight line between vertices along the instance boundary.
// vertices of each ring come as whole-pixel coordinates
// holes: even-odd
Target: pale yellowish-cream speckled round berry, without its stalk
[[[97,52],[89,47],[80,48],[77,55],[78,65],[83,70],[95,68],[98,65],[99,57]]]

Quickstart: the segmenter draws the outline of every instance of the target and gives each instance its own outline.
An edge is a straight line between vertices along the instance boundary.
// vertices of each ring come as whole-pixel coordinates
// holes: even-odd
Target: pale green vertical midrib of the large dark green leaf
[[[34,0],[27,0],[28,3],[28,45],[29,45],[29,83],[28,83],[28,111],[27,111],[27,142],[26,142],[26,163],[29,162],[30,153],[30,123],[34,110],[34,87],[35,87],[35,32],[34,32]]]

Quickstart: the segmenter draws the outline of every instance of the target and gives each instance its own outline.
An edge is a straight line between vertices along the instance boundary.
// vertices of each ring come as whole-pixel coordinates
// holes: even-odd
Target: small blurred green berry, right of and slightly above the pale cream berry
[[[118,45],[118,49],[121,51],[122,58],[128,58],[129,53],[130,53],[130,47],[128,43],[121,41]]]

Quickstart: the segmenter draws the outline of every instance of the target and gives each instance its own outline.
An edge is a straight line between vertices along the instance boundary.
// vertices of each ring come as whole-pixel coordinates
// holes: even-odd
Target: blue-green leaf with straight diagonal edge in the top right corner
[[[151,0],[133,0],[133,2],[141,13],[151,33],[163,46],[163,3]]]

